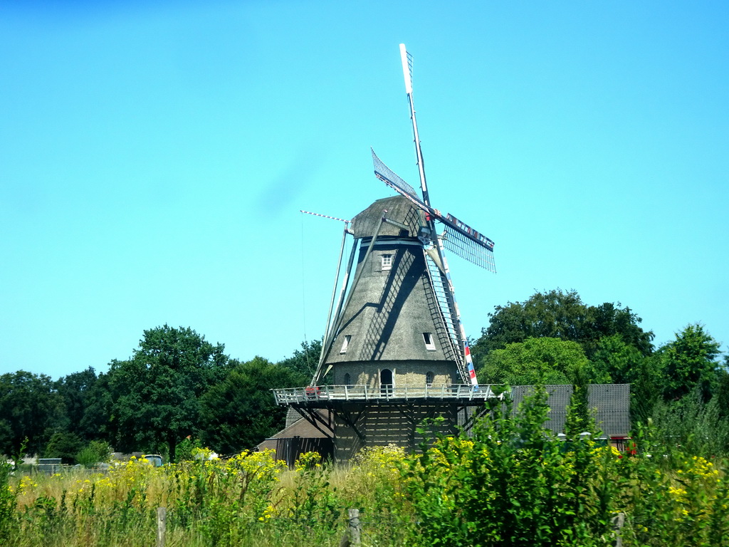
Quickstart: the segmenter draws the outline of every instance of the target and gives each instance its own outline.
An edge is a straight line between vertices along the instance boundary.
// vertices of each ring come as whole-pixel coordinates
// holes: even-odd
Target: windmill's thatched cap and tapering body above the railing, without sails
[[[367,256],[383,214],[398,225],[383,223]],[[396,386],[424,387],[428,373],[434,385],[461,381],[418,239],[424,225],[421,212],[402,196],[375,201],[354,217],[354,237],[362,241],[359,282],[325,359],[334,384],[376,388],[384,369]]]

